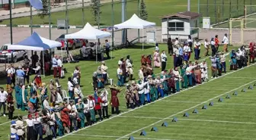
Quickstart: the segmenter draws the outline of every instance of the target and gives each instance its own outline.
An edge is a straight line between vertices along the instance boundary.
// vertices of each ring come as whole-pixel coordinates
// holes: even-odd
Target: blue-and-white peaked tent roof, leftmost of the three
[[[8,49],[44,51],[50,48],[59,47],[61,45],[61,42],[45,39],[34,32],[31,36],[27,37],[27,39],[24,39],[23,41],[18,42],[17,44],[8,45]]]

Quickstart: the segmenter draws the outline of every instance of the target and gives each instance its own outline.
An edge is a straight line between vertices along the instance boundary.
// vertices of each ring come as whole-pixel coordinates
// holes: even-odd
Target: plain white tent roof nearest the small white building
[[[144,29],[149,26],[155,26],[155,23],[142,20],[136,14],[133,14],[133,17],[130,17],[129,20],[114,25],[114,27],[117,27],[118,29]]]

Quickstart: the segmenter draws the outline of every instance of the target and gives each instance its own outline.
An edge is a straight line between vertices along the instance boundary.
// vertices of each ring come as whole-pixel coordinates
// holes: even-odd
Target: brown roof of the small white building
[[[197,18],[197,17],[201,17],[201,14],[191,12],[191,11],[183,11],[183,12],[179,12],[179,13],[176,13],[176,14],[166,15],[166,16],[162,17],[162,19],[171,18],[171,17],[194,19],[194,18]]]

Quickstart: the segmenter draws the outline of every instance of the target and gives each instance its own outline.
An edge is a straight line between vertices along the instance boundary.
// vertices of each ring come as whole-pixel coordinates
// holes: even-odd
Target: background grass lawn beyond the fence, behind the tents
[[[181,11],[187,11],[187,0],[162,0],[161,2],[155,0],[146,0],[146,8],[149,14],[149,21],[157,23],[157,26],[161,26],[161,18],[166,14],[177,13]],[[121,23],[122,7],[120,2],[114,4],[114,23]],[[104,4],[101,6],[101,25],[112,25],[112,11],[111,4]],[[197,12],[197,1],[191,2],[191,11]],[[138,2],[135,0],[127,1],[126,4],[126,19],[129,19],[133,14],[138,13]],[[65,11],[55,12],[51,14],[52,22],[56,25],[58,19],[65,19]],[[82,8],[69,10],[69,25],[82,26]],[[44,20],[38,16],[33,17],[33,24],[48,23],[48,16]],[[85,8],[85,23],[91,24],[94,22],[94,17],[91,14],[91,8]],[[9,24],[8,20],[3,20],[1,24]],[[30,17],[21,17],[13,20],[13,24],[28,25],[30,24]]]

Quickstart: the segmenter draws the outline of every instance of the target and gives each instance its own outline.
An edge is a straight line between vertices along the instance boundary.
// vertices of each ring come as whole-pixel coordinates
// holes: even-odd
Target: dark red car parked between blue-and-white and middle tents
[[[62,34],[61,36],[59,36],[59,38],[57,38],[56,41],[65,42],[65,34]],[[81,48],[84,41],[85,41],[84,39],[68,39],[69,49]],[[66,48],[66,45],[65,45],[65,48]],[[61,47],[57,47],[57,49],[60,50]]]

